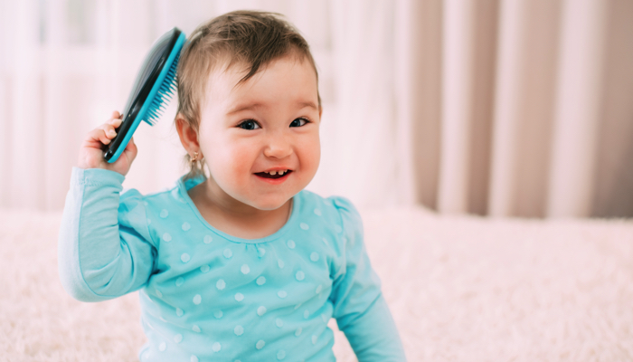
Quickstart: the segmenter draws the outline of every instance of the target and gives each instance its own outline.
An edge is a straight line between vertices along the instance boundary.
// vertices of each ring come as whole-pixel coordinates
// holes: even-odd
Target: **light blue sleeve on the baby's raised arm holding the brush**
[[[124,176],[74,167],[58,243],[61,284],[77,300],[109,300],[137,291],[153,270],[156,248],[142,195],[121,195]]]

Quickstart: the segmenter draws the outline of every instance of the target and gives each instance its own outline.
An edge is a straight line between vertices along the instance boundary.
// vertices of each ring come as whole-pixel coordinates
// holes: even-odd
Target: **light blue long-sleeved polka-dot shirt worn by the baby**
[[[187,190],[121,193],[124,176],[73,168],[59,243],[78,300],[139,291],[142,361],[335,361],[335,318],[360,361],[403,361],[402,343],[343,197],[306,190],[267,237],[215,229]]]

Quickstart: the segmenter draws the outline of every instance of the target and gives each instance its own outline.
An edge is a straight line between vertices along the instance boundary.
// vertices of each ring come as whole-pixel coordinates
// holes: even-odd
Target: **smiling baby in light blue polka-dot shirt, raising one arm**
[[[278,14],[224,14],[191,34],[177,80],[191,171],[122,193],[137,148],[104,161],[117,112],[91,131],[60,232],[66,291],[139,291],[142,361],[334,361],[331,318],[360,361],[405,360],[354,205],[304,190],[321,118],[304,38]]]

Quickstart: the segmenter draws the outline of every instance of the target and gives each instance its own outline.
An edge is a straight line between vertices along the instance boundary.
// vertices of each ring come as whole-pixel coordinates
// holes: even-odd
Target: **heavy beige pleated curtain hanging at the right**
[[[633,3],[402,1],[414,198],[442,213],[633,215]]]

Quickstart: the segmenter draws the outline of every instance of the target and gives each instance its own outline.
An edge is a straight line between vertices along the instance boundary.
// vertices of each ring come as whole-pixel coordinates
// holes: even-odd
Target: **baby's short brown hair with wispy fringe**
[[[310,62],[318,82],[316,63],[306,40],[281,14],[241,10],[201,24],[191,33],[180,54],[178,114],[198,132],[206,81],[215,66],[227,64],[227,69],[235,64],[250,66],[240,84],[269,62],[289,54],[296,55],[299,61]],[[321,108],[320,96],[318,107]],[[185,178],[204,175],[202,160],[190,162],[189,155],[184,158],[191,165]]]

